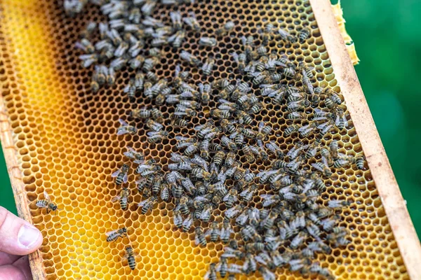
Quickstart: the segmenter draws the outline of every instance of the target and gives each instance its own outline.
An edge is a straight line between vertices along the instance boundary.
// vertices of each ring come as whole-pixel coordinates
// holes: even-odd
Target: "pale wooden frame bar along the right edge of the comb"
[[[368,109],[330,1],[309,1],[403,262],[411,279],[421,279],[420,241]]]

